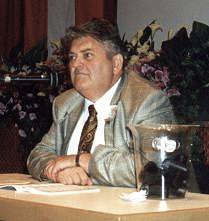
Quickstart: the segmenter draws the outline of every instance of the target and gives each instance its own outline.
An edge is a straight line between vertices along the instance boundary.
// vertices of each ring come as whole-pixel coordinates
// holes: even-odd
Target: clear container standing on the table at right
[[[162,200],[184,197],[190,172],[190,147],[199,125],[129,125],[137,190]]]

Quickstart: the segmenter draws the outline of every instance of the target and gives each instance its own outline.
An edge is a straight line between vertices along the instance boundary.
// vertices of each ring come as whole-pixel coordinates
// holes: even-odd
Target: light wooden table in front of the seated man
[[[29,175],[0,174],[37,183]],[[41,196],[0,190],[2,221],[206,221],[209,220],[209,195],[187,193],[184,199],[139,203],[122,201],[119,195],[131,188],[103,187],[100,192],[66,196]]]

